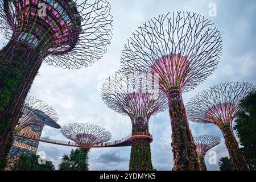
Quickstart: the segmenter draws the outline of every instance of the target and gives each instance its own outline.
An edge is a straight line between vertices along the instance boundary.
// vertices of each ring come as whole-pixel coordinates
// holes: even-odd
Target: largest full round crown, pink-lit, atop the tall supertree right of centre
[[[165,92],[187,92],[216,68],[221,55],[220,32],[196,13],[159,15],[143,23],[125,44],[124,72],[157,73]]]

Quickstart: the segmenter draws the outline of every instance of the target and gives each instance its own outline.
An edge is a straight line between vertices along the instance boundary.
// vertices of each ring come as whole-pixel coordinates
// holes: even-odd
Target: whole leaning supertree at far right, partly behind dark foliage
[[[220,128],[234,170],[249,170],[234,137],[232,122],[240,110],[240,100],[255,89],[247,82],[226,82],[197,94],[186,106],[190,121],[213,123]]]

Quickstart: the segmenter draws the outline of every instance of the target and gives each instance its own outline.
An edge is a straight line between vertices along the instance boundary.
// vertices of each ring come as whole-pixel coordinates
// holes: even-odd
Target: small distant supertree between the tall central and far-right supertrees
[[[207,171],[204,160],[205,154],[208,150],[210,150],[210,148],[217,146],[218,144],[220,144],[220,142],[220,137],[216,137],[213,135],[199,135],[195,137],[196,153],[199,157],[203,171]]]

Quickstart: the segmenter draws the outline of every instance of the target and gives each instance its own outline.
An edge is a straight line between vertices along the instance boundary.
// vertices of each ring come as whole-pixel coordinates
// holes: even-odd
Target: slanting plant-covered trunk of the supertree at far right
[[[222,132],[225,139],[226,147],[229,151],[230,163],[234,171],[248,171],[250,170],[248,164],[246,163],[245,157],[239,150],[238,142],[234,137],[232,130],[229,125],[224,125]]]

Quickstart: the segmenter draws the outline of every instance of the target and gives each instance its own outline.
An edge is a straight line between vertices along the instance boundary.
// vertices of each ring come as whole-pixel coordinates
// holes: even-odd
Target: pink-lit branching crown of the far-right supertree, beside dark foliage
[[[238,103],[255,86],[246,82],[226,82],[204,90],[191,98],[186,106],[190,121],[214,123],[222,129],[232,127],[232,122],[240,110]]]

